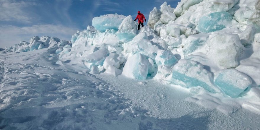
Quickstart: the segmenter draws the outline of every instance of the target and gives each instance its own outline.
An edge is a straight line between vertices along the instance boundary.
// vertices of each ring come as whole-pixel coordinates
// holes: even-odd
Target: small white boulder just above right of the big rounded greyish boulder
[[[242,45],[251,45],[255,34],[256,28],[253,25],[247,25],[246,29],[239,35]]]

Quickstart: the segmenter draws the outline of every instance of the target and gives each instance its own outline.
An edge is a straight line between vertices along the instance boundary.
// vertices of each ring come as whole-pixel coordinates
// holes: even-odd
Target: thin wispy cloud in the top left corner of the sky
[[[25,13],[28,6],[36,5],[33,1],[0,0],[0,21],[30,23],[31,17]]]

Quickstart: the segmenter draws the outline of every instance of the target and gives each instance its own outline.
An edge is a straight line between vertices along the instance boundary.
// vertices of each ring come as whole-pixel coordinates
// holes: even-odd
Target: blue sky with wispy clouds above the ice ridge
[[[104,14],[135,16],[140,10],[148,19],[164,1],[175,8],[180,0],[0,0],[0,48],[35,35],[70,40]]]

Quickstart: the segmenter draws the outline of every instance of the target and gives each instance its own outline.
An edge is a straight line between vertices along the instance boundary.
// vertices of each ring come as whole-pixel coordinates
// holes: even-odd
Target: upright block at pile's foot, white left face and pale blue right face
[[[148,60],[144,55],[137,53],[127,59],[122,75],[129,78],[144,80],[147,77],[148,68]]]

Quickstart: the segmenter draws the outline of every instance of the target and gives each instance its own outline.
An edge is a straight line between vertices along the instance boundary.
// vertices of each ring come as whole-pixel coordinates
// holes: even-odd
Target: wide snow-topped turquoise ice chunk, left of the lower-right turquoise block
[[[203,69],[203,65],[197,61],[180,59],[173,66],[171,82],[187,88],[200,86],[209,92],[217,92],[212,74]]]

